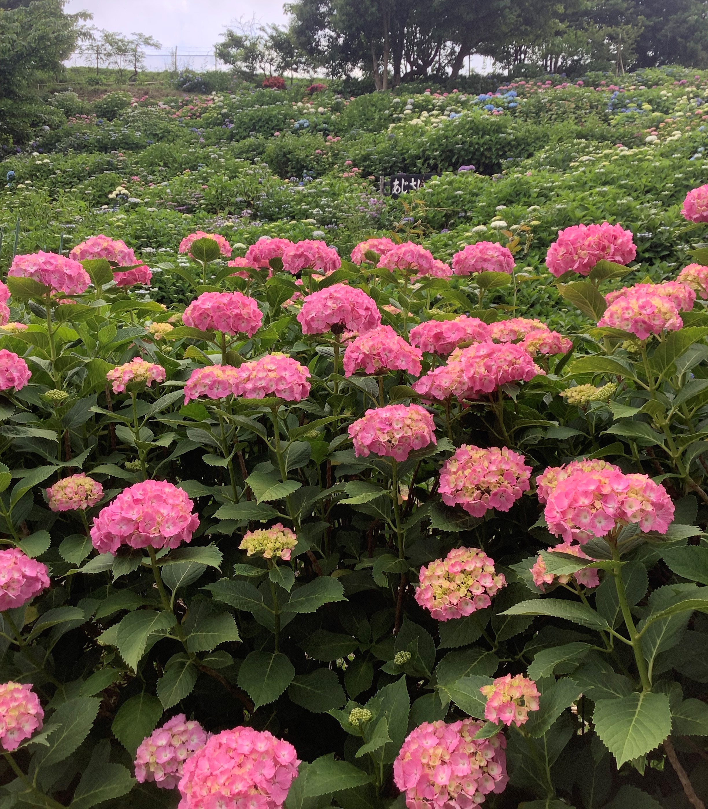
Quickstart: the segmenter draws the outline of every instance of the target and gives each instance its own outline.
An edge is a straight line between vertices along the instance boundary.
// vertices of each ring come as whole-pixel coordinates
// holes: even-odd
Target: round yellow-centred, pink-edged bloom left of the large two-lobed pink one
[[[491,597],[507,584],[494,570],[494,559],[478,548],[453,548],[444,559],[435,559],[418,574],[418,604],[436,621],[472,615],[492,603]]]

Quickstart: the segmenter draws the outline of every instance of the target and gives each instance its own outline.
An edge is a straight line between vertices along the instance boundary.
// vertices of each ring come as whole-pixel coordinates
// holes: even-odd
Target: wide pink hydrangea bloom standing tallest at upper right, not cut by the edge
[[[546,253],[545,264],[557,278],[563,273],[588,275],[598,261],[629,264],[637,255],[632,231],[621,225],[571,225],[558,231],[558,238]]]

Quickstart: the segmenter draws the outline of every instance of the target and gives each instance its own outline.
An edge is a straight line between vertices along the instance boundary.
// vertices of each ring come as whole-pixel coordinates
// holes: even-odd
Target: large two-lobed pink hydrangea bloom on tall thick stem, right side
[[[638,523],[642,531],[666,532],[674,506],[666,489],[647,475],[613,469],[573,472],[558,481],[545,505],[549,531],[567,544],[585,544],[617,523]]]

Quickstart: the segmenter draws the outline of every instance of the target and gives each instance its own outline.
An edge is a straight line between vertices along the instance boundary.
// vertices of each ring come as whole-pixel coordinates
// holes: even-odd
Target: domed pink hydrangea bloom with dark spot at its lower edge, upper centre
[[[381,324],[381,312],[366,292],[355,286],[333,284],[307,295],[298,312],[303,334],[368,332]]]

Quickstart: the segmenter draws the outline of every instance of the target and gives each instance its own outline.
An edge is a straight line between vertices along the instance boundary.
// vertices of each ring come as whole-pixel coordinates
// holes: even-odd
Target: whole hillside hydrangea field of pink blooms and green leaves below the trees
[[[623,81],[53,97],[0,809],[705,809],[708,74]]]

